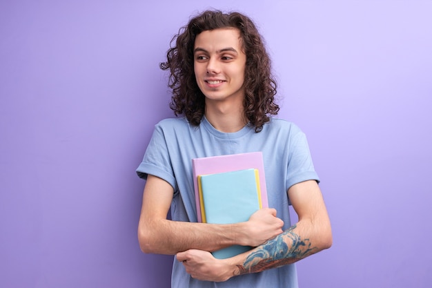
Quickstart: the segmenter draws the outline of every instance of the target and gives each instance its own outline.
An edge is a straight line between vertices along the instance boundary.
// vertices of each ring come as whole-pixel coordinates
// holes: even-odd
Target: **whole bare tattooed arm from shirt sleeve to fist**
[[[331,247],[331,225],[317,182],[311,180],[288,190],[297,224],[251,251],[218,260],[206,251],[177,254],[186,271],[199,280],[225,281],[244,273],[255,273],[288,265]]]

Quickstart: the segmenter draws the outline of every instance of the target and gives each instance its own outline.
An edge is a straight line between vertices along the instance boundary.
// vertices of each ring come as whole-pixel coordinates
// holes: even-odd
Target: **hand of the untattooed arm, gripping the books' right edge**
[[[246,222],[246,234],[242,239],[244,246],[257,247],[282,233],[284,221],[276,217],[276,209],[259,209]]]

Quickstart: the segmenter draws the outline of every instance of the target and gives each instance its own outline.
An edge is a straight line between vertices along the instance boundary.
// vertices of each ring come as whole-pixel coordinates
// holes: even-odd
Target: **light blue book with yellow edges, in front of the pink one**
[[[202,222],[232,224],[247,221],[262,208],[257,169],[198,175]],[[213,252],[215,258],[230,258],[252,247],[234,245]]]

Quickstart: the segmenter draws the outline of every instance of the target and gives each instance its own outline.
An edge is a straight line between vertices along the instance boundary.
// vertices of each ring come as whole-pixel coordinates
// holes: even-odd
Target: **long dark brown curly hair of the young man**
[[[255,132],[262,131],[270,120],[268,115],[277,115],[279,111],[275,103],[277,84],[271,74],[271,59],[255,23],[239,12],[207,10],[190,19],[173,37],[167,61],[159,64],[162,70],[170,70],[168,86],[173,89],[170,108],[176,116],[184,114],[195,126],[201,122],[205,97],[195,79],[193,48],[199,33],[219,28],[239,30],[240,44],[246,55],[244,116],[255,126]]]

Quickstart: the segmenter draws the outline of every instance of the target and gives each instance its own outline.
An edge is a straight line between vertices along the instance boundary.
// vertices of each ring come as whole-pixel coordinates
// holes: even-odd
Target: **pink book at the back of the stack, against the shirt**
[[[262,152],[195,158],[192,160],[192,167],[198,222],[202,222],[201,203],[199,201],[198,187],[199,175],[238,171],[243,169],[257,169],[259,173],[262,207],[268,207],[266,176],[264,174],[264,161],[262,158]]]

